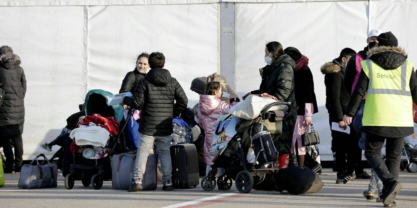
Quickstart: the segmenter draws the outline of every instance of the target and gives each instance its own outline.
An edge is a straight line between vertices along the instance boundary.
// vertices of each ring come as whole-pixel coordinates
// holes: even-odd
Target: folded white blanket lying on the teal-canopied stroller
[[[78,146],[92,145],[94,147],[105,147],[110,133],[99,126],[88,126],[72,130],[69,137],[71,139],[75,138],[75,144]]]

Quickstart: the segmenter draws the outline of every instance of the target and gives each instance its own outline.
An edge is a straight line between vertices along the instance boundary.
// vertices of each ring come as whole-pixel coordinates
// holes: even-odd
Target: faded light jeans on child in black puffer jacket
[[[133,169],[133,180],[142,178],[146,170],[146,161],[148,155],[155,142],[155,153],[158,155],[161,162],[162,181],[166,184],[167,181],[171,181],[172,177],[172,165],[171,165],[171,153],[169,148],[171,147],[171,135],[168,136],[149,136],[139,133],[139,147],[136,153],[135,167]]]

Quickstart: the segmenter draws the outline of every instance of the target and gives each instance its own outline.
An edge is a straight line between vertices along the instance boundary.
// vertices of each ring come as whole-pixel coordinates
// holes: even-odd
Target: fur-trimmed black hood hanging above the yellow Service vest
[[[407,53],[400,47],[379,46],[369,49],[371,59],[384,69],[396,69],[407,60]]]

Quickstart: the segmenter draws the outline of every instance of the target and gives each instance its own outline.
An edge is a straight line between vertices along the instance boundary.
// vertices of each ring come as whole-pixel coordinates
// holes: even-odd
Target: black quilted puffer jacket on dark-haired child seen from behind
[[[174,103],[174,100],[176,101]],[[187,107],[187,96],[168,70],[153,68],[135,86],[133,99],[123,103],[141,109],[139,132],[150,136],[172,134],[172,118]]]

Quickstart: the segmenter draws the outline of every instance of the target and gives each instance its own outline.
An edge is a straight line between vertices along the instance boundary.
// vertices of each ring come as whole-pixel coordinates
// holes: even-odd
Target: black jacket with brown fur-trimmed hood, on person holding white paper
[[[336,59],[327,62],[321,67],[326,85],[326,108],[329,112],[330,122],[343,121],[346,107],[351,94],[346,90],[344,83],[345,67]]]

